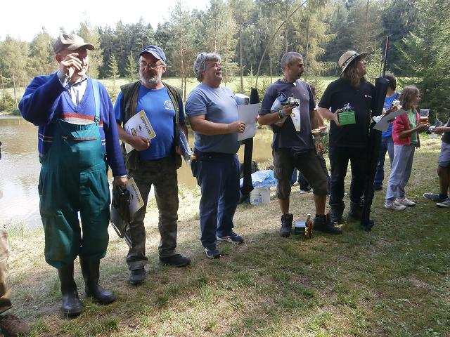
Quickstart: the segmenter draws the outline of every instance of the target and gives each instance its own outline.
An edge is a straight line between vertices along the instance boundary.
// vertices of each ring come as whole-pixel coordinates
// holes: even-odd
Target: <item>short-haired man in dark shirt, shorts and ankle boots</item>
[[[290,178],[294,168],[297,168],[314,191],[316,217],[314,229],[331,234],[341,234],[342,231],[329,223],[325,216],[326,195],[328,193],[326,171],[314,147],[311,126],[317,128],[314,97],[309,84],[301,81],[304,72],[302,55],[293,51],[285,53],[281,58],[283,79],[271,84],[262,100],[258,122],[261,125],[271,125],[274,131],[272,154],[274,156],[274,174],[277,179],[276,196],[281,209],[281,237],[288,237],[293,224],[293,214],[289,213]],[[286,102],[293,99],[300,106]],[[276,109],[274,102],[287,103],[281,110]],[[293,109],[297,111],[293,111]],[[292,117],[292,118],[290,118]],[[300,123],[298,123],[300,119]],[[297,126],[294,124],[297,121]],[[283,124],[281,124],[281,123]],[[277,125],[278,124],[278,125]],[[300,124],[300,127],[299,125]]]

